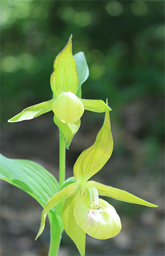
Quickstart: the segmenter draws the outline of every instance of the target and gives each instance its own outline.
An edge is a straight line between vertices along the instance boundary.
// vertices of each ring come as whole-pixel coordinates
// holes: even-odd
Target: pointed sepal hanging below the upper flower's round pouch
[[[70,143],[75,135],[75,133],[78,131],[81,121],[80,119],[75,122],[74,124],[66,124],[62,123],[56,115],[54,115],[54,123],[58,126],[58,128],[61,130],[65,144],[66,144],[66,149],[69,149]]]

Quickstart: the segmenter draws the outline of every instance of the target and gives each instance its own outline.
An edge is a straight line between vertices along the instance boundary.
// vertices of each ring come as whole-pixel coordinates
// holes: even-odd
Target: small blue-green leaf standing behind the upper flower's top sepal
[[[89,68],[83,52],[76,53],[74,55],[74,60],[77,64],[77,74],[79,79],[79,87],[76,95],[81,98],[81,86],[89,77]]]

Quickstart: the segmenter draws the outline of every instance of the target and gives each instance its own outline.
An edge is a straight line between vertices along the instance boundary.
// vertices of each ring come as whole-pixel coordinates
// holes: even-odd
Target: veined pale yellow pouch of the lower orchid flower
[[[115,208],[102,199],[99,199],[98,209],[92,210],[87,201],[80,197],[74,207],[74,217],[82,230],[97,239],[113,238],[122,228]]]

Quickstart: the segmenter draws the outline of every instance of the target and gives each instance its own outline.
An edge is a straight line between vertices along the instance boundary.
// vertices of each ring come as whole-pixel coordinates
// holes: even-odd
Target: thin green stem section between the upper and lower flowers
[[[66,177],[66,145],[62,132],[59,130],[59,187],[64,183]]]

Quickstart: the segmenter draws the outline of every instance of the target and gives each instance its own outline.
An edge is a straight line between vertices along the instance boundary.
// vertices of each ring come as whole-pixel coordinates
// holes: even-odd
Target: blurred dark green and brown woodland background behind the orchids
[[[56,55],[73,34],[73,54],[85,53],[90,76],[82,97],[108,98],[114,151],[93,177],[159,205],[149,209],[106,199],[123,229],[106,241],[87,236],[86,255],[164,255],[164,8],[162,0],[1,0],[1,153],[41,163],[58,179],[58,128],[53,113],[7,120],[52,97]],[[104,114],[85,111],[66,155],[66,177],[90,147]],[[1,255],[47,255],[49,224],[41,238],[41,207],[1,184]],[[78,255],[65,233],[59,256]]]

